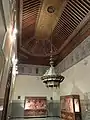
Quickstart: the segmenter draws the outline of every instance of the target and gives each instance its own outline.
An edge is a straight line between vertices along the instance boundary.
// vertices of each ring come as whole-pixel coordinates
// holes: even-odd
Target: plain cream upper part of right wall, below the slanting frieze
[[[90,95],[90,56],[62,74],[65,76],[65,80],[61,84],[61,95],[79,94],[81,99],[84,99],[85,93]]]

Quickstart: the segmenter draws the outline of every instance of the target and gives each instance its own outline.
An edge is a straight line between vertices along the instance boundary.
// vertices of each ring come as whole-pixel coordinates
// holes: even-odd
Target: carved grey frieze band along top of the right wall
[[[74,64],[90,55],[90,36],[88,36],[79,46],[77,46],[66,58],[56,67],[58,72],[64,72]]]

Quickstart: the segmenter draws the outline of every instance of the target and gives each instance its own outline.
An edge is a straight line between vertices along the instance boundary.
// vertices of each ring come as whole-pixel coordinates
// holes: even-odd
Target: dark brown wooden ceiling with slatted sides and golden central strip
[[[90,0],[17,0],[18,59],[55,64],[90,35]]]

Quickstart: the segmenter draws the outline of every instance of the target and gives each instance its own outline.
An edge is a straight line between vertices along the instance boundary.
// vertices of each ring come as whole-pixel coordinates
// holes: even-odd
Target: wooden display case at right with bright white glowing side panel
[[[61,120],[82,120],[79,95],[60,97]]]

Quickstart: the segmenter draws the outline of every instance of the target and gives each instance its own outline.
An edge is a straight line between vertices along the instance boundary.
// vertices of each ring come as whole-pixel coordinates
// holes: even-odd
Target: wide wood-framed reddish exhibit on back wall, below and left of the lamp
[[[25,97],[24,116],[47,116],[46,97]]]

